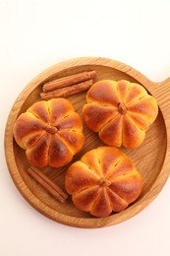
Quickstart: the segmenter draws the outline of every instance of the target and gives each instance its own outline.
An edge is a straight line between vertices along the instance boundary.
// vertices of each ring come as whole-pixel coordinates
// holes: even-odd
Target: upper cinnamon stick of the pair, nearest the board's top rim
[[[81,82],[84,82],[89,79],[93,79],[96,77],[95,70],[93,71],[85,71],[82,73],[78,73],[72,76],[67,76],[64,78],[59,78],[57,80],[50,81],[43,85],[42,91],[43,92],[50,92],[54,91],[59,88],[75,85]]]

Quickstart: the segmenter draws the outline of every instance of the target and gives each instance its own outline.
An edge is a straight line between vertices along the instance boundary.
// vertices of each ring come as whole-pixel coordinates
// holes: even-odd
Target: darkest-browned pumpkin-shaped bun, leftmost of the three
[[[32,104],[16,120],[14,138],[36,167],[67,164],[85,142],[80,115],[62,97]]]

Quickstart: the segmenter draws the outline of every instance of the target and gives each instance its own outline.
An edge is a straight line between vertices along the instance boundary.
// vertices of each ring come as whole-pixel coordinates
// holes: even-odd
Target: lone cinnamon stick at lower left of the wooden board
[[[68,198],[68,195],[58,185],[51,181],[36,167],[28,167],[28,173],[60,203],[64,203]]]

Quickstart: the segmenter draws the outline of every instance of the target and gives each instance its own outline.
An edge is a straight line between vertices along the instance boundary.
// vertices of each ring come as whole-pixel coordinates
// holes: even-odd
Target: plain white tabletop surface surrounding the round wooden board
[[[170,179],[131,220],[99,229],[57,224],[28,205],[4,156],[16,97],[47,67],[80,56],[124,62],[152,81],[170,76],[169,0],[0,0],[0,255],[170,255]]]

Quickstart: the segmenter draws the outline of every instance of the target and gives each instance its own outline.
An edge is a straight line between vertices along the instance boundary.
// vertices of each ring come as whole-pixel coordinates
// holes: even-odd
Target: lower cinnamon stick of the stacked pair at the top
[[[70,87],[61,88],[51,92],[41,93],[40,96],[42,99],[50,99],[50,98],[59,97],[59,96],[71,96],[71,95],[75,95],[80,92],[88,90],[92,85],[93,85],[93,80],[90,79]]]

